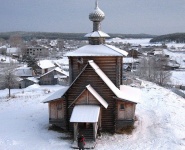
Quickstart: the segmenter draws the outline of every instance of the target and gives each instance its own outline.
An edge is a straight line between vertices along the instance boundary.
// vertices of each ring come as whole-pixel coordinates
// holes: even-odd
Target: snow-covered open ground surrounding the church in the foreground
[[[61,86],[0,90],[0,150],[70,150],[68,136],[48,130],[48,106],[41,103]],[[49,92],[48,92],[49,91]],[[150,82],[143,82],[138,121],[131,135],[103,134],[95,150],[184,150],[185,100]]]

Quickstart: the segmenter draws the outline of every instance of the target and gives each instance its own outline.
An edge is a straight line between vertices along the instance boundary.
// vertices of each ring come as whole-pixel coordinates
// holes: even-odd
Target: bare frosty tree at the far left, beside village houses
[[[0,84],[2,87],[8,88],[9,97],[11,96],[10,90],[18,86],[17,76],[14,74],[14,70],[16,67],[16,64],[10,63],[4,68],[1,68]]]

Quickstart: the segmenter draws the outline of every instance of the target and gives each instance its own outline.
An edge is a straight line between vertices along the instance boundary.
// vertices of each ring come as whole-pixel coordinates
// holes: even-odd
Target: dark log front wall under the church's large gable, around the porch
[[[115,102],[113,99],[113,92],[107,87],[102,79],[94,72],[91,66],[87,66],[86,70],[75,81],[73,86],[68,90],[67,101],[69,105],[82,93],[87,85],[91,85],[109,104],[108,108],[102,108],[102,130],[114,131],[115,130]],[[73,106],[68,109],[68,122],[73,111]],[[85,112],[84,112],[85,113]],[[73,130],[73,124],[69,123],[69,130]]]

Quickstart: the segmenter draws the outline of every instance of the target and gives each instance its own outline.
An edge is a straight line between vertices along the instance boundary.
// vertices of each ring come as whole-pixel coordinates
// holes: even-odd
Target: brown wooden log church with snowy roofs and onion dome
[[[45,99],[49,123],[86,139],[96,141],[100,131],[114,133],[133,125],[137,96],[135,89],[122,85],[122,60],[127,52],[105,44],[101,31],[104,12],[98,7],[89,14],[93,32],[85,35],[89,44],[66,54],[70,86]]]

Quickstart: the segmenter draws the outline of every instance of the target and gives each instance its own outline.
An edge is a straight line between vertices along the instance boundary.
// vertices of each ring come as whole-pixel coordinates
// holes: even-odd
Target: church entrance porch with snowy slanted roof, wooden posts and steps
[[[94,148],[98,127],[101,127],[100,120],[100,106],[76,105],[70,119],[74,126],[74,142],[71,147],[78,148],[78,136],[83,134],[86,142],[85,148]]]

